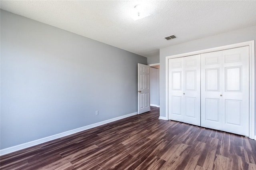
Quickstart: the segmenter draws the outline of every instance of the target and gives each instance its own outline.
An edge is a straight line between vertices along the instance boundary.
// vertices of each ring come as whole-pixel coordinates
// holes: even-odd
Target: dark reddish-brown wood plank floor
[[[2,170],[256,170],[256,141],[159,120],[159,108],[0,157]]]

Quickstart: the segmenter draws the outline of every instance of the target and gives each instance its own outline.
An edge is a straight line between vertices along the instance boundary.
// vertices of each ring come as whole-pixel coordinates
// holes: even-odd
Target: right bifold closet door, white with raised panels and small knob
[[[249,47],[201,54],[201,126],[249,136]]]

